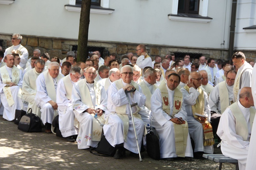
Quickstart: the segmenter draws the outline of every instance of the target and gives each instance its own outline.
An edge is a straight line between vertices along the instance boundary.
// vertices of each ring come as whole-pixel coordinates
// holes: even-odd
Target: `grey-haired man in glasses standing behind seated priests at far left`
[[[20,57],[20,66],[25,69],[28,61],[28,50],[21,45],[22,36],[20,34],[12,35],[12,46],[6,48],[4,56],[12,53],[17,53]]]

